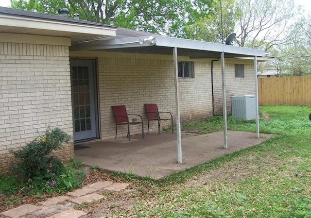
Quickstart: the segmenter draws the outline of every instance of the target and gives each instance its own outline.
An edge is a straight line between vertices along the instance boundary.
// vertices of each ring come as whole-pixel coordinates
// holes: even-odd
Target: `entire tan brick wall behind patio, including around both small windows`
[[[101,138],[113,138],[116,127],[112,105],[125,105],[129,114],[140,114],[147,131],[144,103],[157,103],[160,111],[170,111],[175,125],[175,91],[173,56],[154,54],[131,54],[100,51],[74,51],[71,58],[94,58],[97,60],[99,86],[99,112]],[[181,61],[194,61],[195,78],[179,78],[181,121],[188,122],[212,117],[211,60],[178,57]],[[254,67],[248,60],[226,60],[227,111],[231,113],[230,96],[254,94]],[[234,63],[245,64],[245,78],[235,78]],[[214,62],[215,114],[222,109],[221,64]],[[156,122],[151,122],[156,131]],[[170,121],[161,126],[170,126]],[[139,125],[130,126],[131,134],[140,134]],[[126,136],[127,127],[118,127],[118,137]]]

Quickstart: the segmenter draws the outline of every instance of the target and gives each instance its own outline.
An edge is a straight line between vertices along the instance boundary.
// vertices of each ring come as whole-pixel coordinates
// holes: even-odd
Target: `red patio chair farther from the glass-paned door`
[[[173,116],[170,112],[159,112],[157,109],[157,105],[156,104],[144,104],[145,105],[145,109],[147,112],[147,117],[148,117],[148,132],[149,133],[149,121],[152,120],[157,120],[157,127],[158,127],[158,132],[160,134],[160,125],[161,125],[161,120],[172,120],[172,134],[173,132]],[[160,117],[160,114],[162,113],[166,113],[169,114],[170,117]]]

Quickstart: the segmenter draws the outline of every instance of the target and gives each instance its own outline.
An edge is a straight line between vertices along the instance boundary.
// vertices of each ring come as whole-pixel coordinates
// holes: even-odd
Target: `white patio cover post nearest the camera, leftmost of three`
[[[177,155],[178,164],[181,164],[182,154],[181,154],[181,131],[180,131],[180,111],[179,111],[179,90],[178,90],[178,62],[177,62],[177,47],[173,48],[173,60],[175,68],[175,107],[176,107],[176,133],[177,133]],[[173,128],[173,126],[172,126]]]

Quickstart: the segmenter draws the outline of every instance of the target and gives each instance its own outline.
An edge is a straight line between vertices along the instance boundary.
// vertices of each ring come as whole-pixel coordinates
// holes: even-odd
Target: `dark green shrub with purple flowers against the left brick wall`
[[[28,143],[18,151],[10,151],[20,162],[12,164],[12,170],[22,176],[28,187],[44,190],[70,189],[77,184],[76,178],[70,169],[55,156],[52,151],[62,148],[63,143],[68,143],[70,136],[60,128],[48,128],[38,139]],[[59,184],[58,184],[59,183]],[[68,184],[74,184],[68,185]]]

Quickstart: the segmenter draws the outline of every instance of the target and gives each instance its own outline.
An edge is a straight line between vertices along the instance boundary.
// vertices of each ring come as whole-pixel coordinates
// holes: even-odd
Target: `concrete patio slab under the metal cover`
[[[140,138],[141,135],[133,135],[131,138],[135,141],[127,143],[113,139],[86,143],[89,148],[75,151],[75,157],[88,166],[160,179],[226,153],[257,145],[269,136],[260,134],[257,138],[256,133],[227,131],[228,148],[224,149],[223,131],[204,135],[182,134],[182,164],[177,163],[176,134],[168,133],[145,134],[144,139]]]

